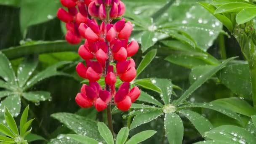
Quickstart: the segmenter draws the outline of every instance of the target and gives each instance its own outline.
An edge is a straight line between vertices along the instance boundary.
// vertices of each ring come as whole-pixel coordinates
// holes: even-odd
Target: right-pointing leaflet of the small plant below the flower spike
[[[140,133],[137,133],[136,135],[131,137],[131,139],[129,139],[125,144],[139,144],[140,142],[149,139],[155,133],[156,131],[153,130],[141,131]]]

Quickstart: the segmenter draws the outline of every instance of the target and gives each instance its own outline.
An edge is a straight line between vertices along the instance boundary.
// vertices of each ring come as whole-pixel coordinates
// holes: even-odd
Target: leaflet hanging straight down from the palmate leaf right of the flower
[[[174,112],[166,113],[164,123],[169,144],[182,144],[184,127],[179,115]]]

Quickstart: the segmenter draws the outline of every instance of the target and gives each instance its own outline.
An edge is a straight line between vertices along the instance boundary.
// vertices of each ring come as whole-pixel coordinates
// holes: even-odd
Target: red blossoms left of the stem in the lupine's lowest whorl
[[[75,101],[82,108],[94,107],[97,111],[102,111],[107,108],[107,104],[111,101],[109,91],[103,91],[99,83],[90,82],[88,85],[83,85],[81,92],[77,93]]]

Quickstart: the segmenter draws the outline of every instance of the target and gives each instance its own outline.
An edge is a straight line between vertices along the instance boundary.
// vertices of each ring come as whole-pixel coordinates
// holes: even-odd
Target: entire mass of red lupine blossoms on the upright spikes
[[[61,0],[61,3],[68,8],[68,11],[60,8],[57,12],[59,19],[67,23],[66,40],[77,44],[85,38],[78,54],[85,60],[86,66],[79,63],[76,71],[80,77],[89,80],[89,85],[82,86],[75,101],[82,108],[94,105],[98,111],[115,103],[118,109],[127,111],[141,92],[136,86],[129,91],[130,82],[136,77],[136,65],[128,57],[139,49],[135,40],[128,44],[133,25],[125,19],[111,23],[113,19],[123,16],[125,5],[120,0]],[[101,24],[96,19],[101,20]],[[110,61],[117,61],[116,71]],[[105,79],[104,90],[97,83],[101,77]],[[116,92],[117,77],[124,83]]]

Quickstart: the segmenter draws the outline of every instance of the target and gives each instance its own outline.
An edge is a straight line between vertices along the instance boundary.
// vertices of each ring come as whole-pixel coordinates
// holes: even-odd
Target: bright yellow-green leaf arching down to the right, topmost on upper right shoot
[[[199,2],[199,4],[203,6],[207,11],[209,11],[213,16],[219,19],[219,21],[221,21],[221,23],[224,24],[224,26],[227,27],[227,29],[229,29],[230,32],[233,31],[232,21],[230,21],[230,19],[224,15],[214,14],[214,11],[216,10],[216,8],[213,5],[210,5],[209,3],[205,3],[205,2]]]

